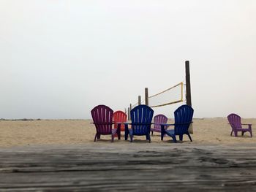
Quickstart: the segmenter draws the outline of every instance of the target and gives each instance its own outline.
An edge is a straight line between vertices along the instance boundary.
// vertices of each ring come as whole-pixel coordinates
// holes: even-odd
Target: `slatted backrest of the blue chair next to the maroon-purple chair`
[[[133,134],[143,135],[150,132],[150,123],[152,121],[154,110],[145,104],[140,104],[131,110],[132,123],[136,125],[132,126]]]

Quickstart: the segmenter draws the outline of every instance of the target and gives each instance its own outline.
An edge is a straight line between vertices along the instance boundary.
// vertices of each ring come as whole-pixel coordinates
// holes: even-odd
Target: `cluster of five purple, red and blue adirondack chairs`
[[[146,136],[148,142],[151,142],[150,132],[153,135],[154,131],[161,133],[161,140],[167,135],[173,138],[173,142],[177,142],[176,136],[182,141],[183,135],[187,134],[192,142],[188,129],[190,123],[192,123],[193,114],[192,107],[184,104],[174,112],[174,124],[167,124],[167,117],[162,114],[154,116],[154,123],[152,123],[154,110],[141,104],[131,110],[131,123],[128,123],[127,115],[124,112],[113,112],[108,106],[98,105],[91,110],[91,116],[96,127],[94,142],[100,139],[101,135],[107,134],[111,135],[112,142],[115,137],[121,139],[121,131],[124,131],[124,139],[127,140],[129,137],[130,142],[133,141],[135,135]],[[170,126],[173,126],[173,129],[169,129]]]

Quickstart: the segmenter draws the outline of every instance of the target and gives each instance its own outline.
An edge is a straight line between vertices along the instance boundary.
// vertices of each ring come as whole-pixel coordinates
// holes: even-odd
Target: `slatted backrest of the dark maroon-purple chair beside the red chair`
[[[113,122],[113,110],[103,104],[91,110],[91,117],[94,120],[97,134],[111,134]],[[100,124],[97,124],[100,123]]]

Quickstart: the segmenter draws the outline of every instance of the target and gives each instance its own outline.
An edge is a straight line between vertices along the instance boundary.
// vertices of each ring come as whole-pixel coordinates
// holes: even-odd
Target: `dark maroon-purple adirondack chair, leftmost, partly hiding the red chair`
[[[100,135],[110,134],[114,141],[115,134],[118,134],[118,139],[120,139],[120,126],[118,128],[112,128],[113,123],[113,110],[105,105],[98,105],[91,110],[91,116],[94,120],[94,125],[96,127],[96,134],[94,137],[94,142],[96,139],[100,139]]]

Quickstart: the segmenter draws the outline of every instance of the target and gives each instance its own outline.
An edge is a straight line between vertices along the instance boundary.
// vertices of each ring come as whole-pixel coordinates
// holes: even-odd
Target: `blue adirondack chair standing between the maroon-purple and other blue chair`
[[[140,104],[131,110],[131,120],[132,123],[124,123],[125,134],[124,139],[128,139],[128,134],[130,137],[130,142],[133,140],[134,135],[146,136],[146,139],[151,142],[150,139],[150,127],[151,120],[153,118],[154,111],[146,106],[145,104]],[[131,125],[132,128],[128,128]]]

